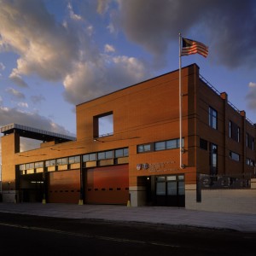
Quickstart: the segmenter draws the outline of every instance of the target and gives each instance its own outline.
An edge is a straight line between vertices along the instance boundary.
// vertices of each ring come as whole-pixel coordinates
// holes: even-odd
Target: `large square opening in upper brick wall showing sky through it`
[[[93,137],[113,135],[113,112],[103,113],[93,118]]]

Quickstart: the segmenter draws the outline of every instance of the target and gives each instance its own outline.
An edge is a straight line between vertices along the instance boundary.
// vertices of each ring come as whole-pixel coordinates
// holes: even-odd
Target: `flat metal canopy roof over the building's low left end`
[[[0,132],[4,135],[8,135],[10,133],[18,133],[20,137],[32,138],[39,141],[51,142],[55,141],[58,143],[65,143],[69,141],[75,141],[76,137],[71,137],[51,131],[44,131],[32,127],[28,127],[25,125],[5,125],[0,128]]]

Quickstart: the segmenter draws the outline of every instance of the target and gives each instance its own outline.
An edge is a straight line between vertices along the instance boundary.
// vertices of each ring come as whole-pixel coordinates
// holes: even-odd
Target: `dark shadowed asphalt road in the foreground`
[[[255,233],[0,212],[3,255],[255,255]]]

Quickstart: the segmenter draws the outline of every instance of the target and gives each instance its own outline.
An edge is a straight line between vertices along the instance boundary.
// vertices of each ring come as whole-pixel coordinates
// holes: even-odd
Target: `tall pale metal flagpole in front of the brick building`
[[[178,102],[179,102],[179,166],[180,168],[183,169],[183,156],[182,156],[182,149],[183,149],[183,145],[182,145],[182,139],[183,139],[183,108],[182,108],[182,76],[181,76],[181,71],[182,71],[182,60],[181,60],[181,43],[182,43],[182,35],[181,33],[178,34],[179,36],[179,86],[178,86]]]

